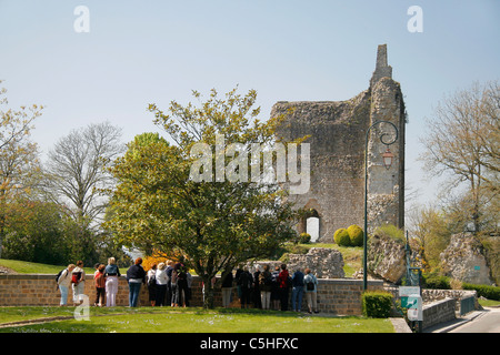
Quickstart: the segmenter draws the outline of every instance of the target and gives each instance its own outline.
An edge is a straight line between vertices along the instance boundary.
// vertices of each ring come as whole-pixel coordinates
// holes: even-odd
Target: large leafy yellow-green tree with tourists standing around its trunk
[[[201,98],[196,91],[193,95]],[[212,90],[199,106],[173,101],[163,112],[151,104],[154,122],[174,144],[150,134],[138,136],[111,168],[119,183],[108,226],[124,245],[182,255],[207,287],[206,307],[213,307],[211,280],[218,273],[224,276],[239,263],[267,256],[294,236],[294,212],[276,183],[190,179],[198,159],[191,149],[213,148],[217,134],[242,144],[239,154],[248,153],[252,143],[273,142],[282,118],[260,122],[260,109],[252,109],[256,98],[254,90],[242,97],[234,89],[226,99]],[[214,166],[221,158],[230,163],[213,150],[207,162]]]

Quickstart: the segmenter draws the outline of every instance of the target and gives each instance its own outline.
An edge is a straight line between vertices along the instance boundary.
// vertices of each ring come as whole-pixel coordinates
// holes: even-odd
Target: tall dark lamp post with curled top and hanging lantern
[[[382,144],[387,145],[387,151],[382,154],[383,159],[383,166],[386,169],[390,169],[392,165],[392,159],[394,155],[389,150],[389,145],[393,144],[398,140],[398,128],[394,123],[389,121],[377,121],[367,131],[367,136],[364,140],[364,233],[363,233],[363,292],[367,291],[368,287],[368,140],[370,138],[370,131],[373,126],[380,124],[380,123],[388,123],[392,125],[392,128],[396,131],[396,135],[393,139],[389,140],[388,142],[384,141],[387,135],[390,135],[389,133],[382,133],[380,134],[380,142]]]

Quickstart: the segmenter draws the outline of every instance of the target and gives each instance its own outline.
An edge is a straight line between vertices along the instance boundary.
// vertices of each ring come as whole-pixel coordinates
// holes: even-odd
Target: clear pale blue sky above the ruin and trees
[[[73,14],[89,9],[90,32]],[[423,32],[408,8],[420,6]],[[277,101],[347,100],[368,89],[388,44],[409,113],[407,182],[434,200],[417,156],[424,118],[444,94],[500,79],[498,0],[0,0],[0,79],[10,106],[40,103],[33,141],[47,152],[70,130],[104,120],[123,142],[159,131],[148,103],[187,103],[191,90],[258,91]]]

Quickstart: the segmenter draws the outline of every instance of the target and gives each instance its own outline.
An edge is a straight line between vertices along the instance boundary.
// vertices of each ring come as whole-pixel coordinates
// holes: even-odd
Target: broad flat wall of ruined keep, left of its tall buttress
[[[318,212],[319,240],[332,241],[339,227],[362,225],[364,131],[370,95],[362,92],[342,102],[278,102],[271,115],[292,109],[278,131],[284,141],[311,135],[310,190],[290,195],[297,206]],[[299,233],[304,232],[303,226]]]

